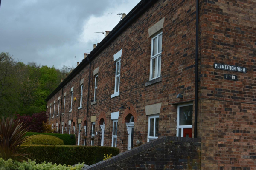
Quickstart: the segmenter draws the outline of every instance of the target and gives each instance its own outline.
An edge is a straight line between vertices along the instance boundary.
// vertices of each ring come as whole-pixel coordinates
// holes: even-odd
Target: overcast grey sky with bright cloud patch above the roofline
[[[76,66],[140,0],[2,0],[0,52],[18,61]],[[74,58],[76,56],[76,59]]]

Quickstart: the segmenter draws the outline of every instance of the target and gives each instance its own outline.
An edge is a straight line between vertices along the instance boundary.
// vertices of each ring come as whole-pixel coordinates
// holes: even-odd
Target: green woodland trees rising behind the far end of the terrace
[[[0,116],[32,115],[45,111],[45,99],[73,69],[65,66],[24,64],[9,53],[0,53]]]

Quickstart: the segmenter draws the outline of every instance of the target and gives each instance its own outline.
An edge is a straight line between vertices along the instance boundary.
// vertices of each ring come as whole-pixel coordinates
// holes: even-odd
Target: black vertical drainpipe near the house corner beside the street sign
[[[199,0],[196,0],[196,34],[195,34],[195,127],[194,138],[197,137],[198,120],[198,26],[199,25]]]

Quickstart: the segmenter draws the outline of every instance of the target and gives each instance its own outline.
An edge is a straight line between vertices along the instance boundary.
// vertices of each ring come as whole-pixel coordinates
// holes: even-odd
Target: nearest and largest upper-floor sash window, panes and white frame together
[[[150,79],[156,79],[161,76],[162,34],[161,32],[152,38]]]

